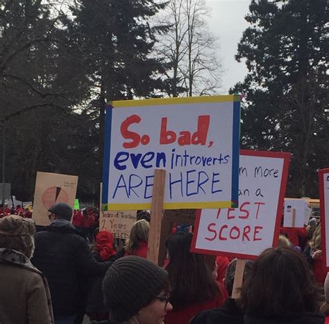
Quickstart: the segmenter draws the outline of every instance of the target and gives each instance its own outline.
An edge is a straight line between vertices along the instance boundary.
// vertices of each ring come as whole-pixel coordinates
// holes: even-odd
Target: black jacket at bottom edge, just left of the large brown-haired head
[[[234,299],[228,298],[220,308],[201,311],[189,324],[244,324],[244,314]]]

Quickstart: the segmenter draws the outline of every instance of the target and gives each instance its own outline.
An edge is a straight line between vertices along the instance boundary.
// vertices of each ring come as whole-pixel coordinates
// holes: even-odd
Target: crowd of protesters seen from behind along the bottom
[[[276,248],[246,261],[232,298],[237,259],[190,252],[191,227],[175,225],[160,267],[146,259],[146,211],[121,249],[92,211],[57,203],[48,218],[38,232],[19,213],[0,218],[1,324],[77,324],[85,314],[93,324],[329,323],[317,220],[281,228]]]

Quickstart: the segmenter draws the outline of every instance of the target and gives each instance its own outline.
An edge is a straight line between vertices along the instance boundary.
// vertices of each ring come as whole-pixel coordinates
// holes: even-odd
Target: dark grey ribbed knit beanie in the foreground
[[[168,273],[141,257],[122,257],[108,269],[103,296],[112,321],[127,321],[165,288]]]

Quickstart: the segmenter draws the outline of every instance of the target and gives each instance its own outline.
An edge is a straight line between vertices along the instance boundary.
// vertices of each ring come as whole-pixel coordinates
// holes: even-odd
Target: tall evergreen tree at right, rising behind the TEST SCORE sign
[[[318,195],[317,169],[329,164],[328,1],[251,1],[251,24],[236,59],[248,74],[242,146],[292,152],[289,196]]]

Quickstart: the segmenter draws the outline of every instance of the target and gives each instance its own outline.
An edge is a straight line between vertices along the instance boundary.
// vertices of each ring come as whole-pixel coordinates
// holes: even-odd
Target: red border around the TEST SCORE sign
[[[272,246],[276,246],[278,244],[278,240],[279,240],[280,222],[281,222],[281,216],[282,216],[282,210],[283,210],[283,202],[285,200],[285,189],[287,187],[289,161],[290,161],[291,154],[285,153],[285,152],[251,151],[251,150],[247,150],[247,149],[241,149],[240,155],[261,156],[261,157],[271,157],[271,158],[276,158],[276,159],[283,159],[282,177],[281,177],[280,193],[279,193],[279,199],[278,199],[278,209],[276,210],[276,225],[275,225],[274,232],[273,232],[273,244],[272,244]],[[327,169],[327,170],[329,170],[329,169]],[[192,238],[192,244],[191,244],[191,249],[190,249],[191,252],[223,255],[226,257],[237,257],[238,259],[256,259],[258,257],[258,255],[253,255],[253,254],[231,253],[231,252],[226,252],[226,251],[214,251],[214,250],[205,250],[205,249],[196,248],[195,247],[196,233],[199,232],[200,216],[201,216],[201,209],[196,211],[194,235]]]

